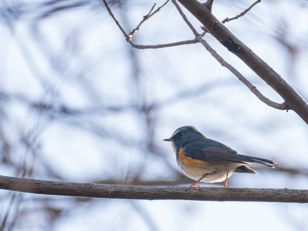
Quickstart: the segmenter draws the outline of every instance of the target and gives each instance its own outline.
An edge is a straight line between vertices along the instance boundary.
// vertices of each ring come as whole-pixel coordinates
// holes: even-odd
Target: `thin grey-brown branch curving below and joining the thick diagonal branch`
[[[261,0],[260,0],[261,1]],[[185,14],[183,13],[182,9],[180,8],[179,4],[177,4],[176,0],[172,0],[172,3],[176,6],[176,9],[179,11],[180,15],[183,17],[184,21],[187,23],[189,28],[193,31],[193,33],[196,35],[196,40],[201,43],[207,51],[210,52],[210,54],[223,66],[226,67],[229,71],[231,71],[239,80],[241,80],[242,83],[244,83],[249,90],[255,94],[258,99],[260,99],[263,103],[267,104],[270,107],[274,107],[276,109],[280,110],[288,110],[290,107],[286,105],[286,102],[284,103],[275,103],[271,101],[270,99],[266,98],[264,95],[260,93],[260,91],[257,90],[255,86],[253,86],[248,79],[246,79],[239,71],[237,71],[234,67],[232,67],[229,63],[227,63],[220,55],[217,54],[217,52],[210,47],[210,45],[202,38],[203,34],[196,34],[195,28],[191,25],[191,23],[186,18]],[[202,27],[201,27],[202,28]],[[205,28],[206,29],[206,28]]]

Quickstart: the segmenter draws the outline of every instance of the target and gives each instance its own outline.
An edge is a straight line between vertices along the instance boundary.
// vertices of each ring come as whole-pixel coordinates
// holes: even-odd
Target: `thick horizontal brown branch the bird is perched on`
[[[147,187],[72,183],[0,176],[0,188],[18,192],[117,199],[308,203],[308,190],[274,188]]]

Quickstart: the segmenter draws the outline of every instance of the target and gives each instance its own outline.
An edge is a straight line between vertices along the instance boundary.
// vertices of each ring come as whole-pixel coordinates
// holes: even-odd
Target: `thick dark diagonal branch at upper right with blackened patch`
[[[178,1],[206,27],[207,32],[270,85],[285,100],[288,107],[308,124],[308,103],[290,83],[238,39],[223,23],[218,21],[204,4],[198,0]]]

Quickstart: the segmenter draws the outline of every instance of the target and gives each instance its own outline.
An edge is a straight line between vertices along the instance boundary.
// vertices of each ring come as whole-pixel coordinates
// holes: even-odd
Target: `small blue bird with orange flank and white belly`
[[[257,174],[247,167],[247,164],[263,164],[271,168],[280,166],[273,160],[238,154],[224,144],[207,139],[193,126],[176,129],[172,136],[164,141],[171,142],[180,170],[186,176],[197,180],[189,186],[197,187],[199,191],[199,181],[214,183],[226,180],[224,188],[230,189],[227,180],[233,172]]]

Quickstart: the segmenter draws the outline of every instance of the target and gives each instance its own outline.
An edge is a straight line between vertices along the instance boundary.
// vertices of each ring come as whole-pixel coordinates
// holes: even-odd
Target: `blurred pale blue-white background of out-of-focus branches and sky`
[[[156,1],[161,6],[165,1]],[[253,1],[216,0],[223,20]],[[127,33],[154,1],[109,6]],[[157,7],[156,6],[156,7]],[[156,9],[156,8],[155,8]],[[201,23],[184,13],[202,33]],[[308,1],[264,0],[225,25],[308,99]],[[210,34],[205,40],[266,97],[281,97]],[[172,2],[136,44],[194,39]],[[0,175],[130,185],[189,185],[163,139],[184,125],[275,169],[231,187],[308,188],[308,126],[266,106],[201,44],[132,49],[101,0],[0,2]],[[201,186],[220,187],[201,183]],[[0,190],[0,230],[307,230],[308,205],[138,201]]]

